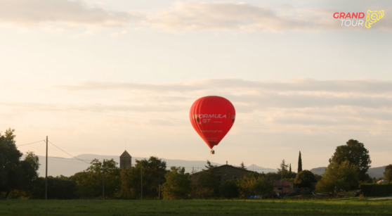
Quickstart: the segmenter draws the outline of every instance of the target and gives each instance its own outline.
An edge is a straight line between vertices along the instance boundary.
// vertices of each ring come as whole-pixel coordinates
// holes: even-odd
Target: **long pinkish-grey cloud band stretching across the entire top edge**
[[[115,11],[68,0],[0,0],[0,5],[0,24],[39,26],[51,31],[59,25],[99,29],[129,24],[168,32],[367,30],[365,27],[342,27],[339,19],[332,18],[337,11],[289,5],[270,8],[246,3],[178,1],[169,8],[155,11]],[[392,18],[385,15],[372,29],[391,30],[391,27]]]

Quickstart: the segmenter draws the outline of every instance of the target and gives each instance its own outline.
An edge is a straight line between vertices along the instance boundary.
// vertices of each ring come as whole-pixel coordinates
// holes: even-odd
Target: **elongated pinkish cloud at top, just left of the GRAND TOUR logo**
[[[319,31],[334,26],[334,20],[326,17],[325,13],[320,15],[320,10],[288,10],[289,13],[287,9],[277,11],[244,3],[177,2],[165,11],[147,15],[142,22],[167,31]]]

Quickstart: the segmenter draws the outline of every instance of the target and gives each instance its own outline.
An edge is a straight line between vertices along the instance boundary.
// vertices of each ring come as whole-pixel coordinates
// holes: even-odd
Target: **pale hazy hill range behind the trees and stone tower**
[[[39,176],[45,176],[45,156],[38,156],[39,163]],[[93,154],[82,154],[77,155],[77,158],[84,160],[77,160],[75,158],[60,158],[60,157],[48,157],[48,176],[58,176],[63,174],[66,177],[70,177],[71,175],[86,170],[87,167],[90,166],[91,160],[97,158],[100,161],[114,159],[117,163],[119,163],[119,155],[93,155]],[[135,164],[135,160],[141,160],[144,158],[141,157],[132,157],[132,164]],[[185,167],[186,172],[192,172],[192,169],[195,171],[200,171],[205,169],[205,165],[207,165],[207,160],[173,160],[173,159],[165,159],[161,158],[162,160],[166,161],[167,167]],[[222,165],[220,163],[211,162],[212,165]],[[119,166],[119,165],[117,165]],[[252,170],[252,165],[247,167],[248,170]],[[254,171],[262,172],[276,172],[274,169],[268,169],[259,167],[257,165],[253,165]]]

